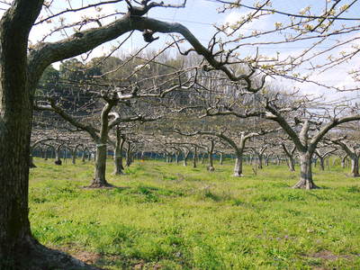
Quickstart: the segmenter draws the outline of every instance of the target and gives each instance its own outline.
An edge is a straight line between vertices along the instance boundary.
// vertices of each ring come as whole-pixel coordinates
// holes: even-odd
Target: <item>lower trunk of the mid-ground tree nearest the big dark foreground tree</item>
[[[98,187],[112,186],[111,184],[107,183],[105,177],[106,154],[107,154],[106,143],[100,142],[98,145],[96,145],[94,179],[89,187],[98,188]]]

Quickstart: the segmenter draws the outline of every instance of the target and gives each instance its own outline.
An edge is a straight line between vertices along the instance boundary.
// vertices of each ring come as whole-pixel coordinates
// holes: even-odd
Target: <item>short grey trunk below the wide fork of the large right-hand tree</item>
[[[293,188],[314,189],[319,188],[312,181],[311,153],[301,153],[300,155],[300,181]]]

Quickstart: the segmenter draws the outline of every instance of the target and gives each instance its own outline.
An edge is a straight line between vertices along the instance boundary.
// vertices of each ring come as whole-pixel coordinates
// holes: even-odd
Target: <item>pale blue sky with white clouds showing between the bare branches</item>
[[[353,0],[342,0],[344,4],[351,3]],[[10,1],[11,2],[11,1]],[[98,1],[95,0],[76,0],[72,1],[72,7],[76,8],[76,4],[91,4]],[[166,3],[171,4],[179,4],[182,1],[180,0],[168,0]],[[263,1],[259,1],[263,2]],[[293,13],[297,14],[300,10],[304,9],[306,6],[311,6],[312,10],[321,10],[325,7],[325,0],[302,0],[302,1],[293,1],[293,0],[273,0],[273,5],[277,10],[284,11],[287,13]],[[54,5],[51,8],[52,13],[57,13],[58,11],[64,10],[64,8],[68,8],[68,1],[64,0],[54,0]],[[253,0],[243,0],[241,2],[242,4],[254,4],[255,1]],[[333,0],[329,0],[328,4],[333,4]],[[179,8],[179,9],[172,9],[172,8],[154,8],[148,13],[148,17],[156,18],[158,20],[166,21],[166,22],[176,22],[176,23],[182,23],[184,26],[186,26],[190,31],[193,32],[193,34],[197,37],[198,40],[202,42],[203,45],[207,45],[209,40],[211,40],[211,37],[213,33],[215,32],[213,24],[223,24],[223,23],[236,23],[241,16],[248,14],[249,10],[246,8],[239,8],[239,9],[232,9],[230,12],[226,13],[219,13],[217,9],[219,9],[221,5],[219,3],[215,3],[213,0],[188,0],[186,3],[185,8]],[[0,4],[0,8],[6,8],[6,5]],[[108,4],[105,7],[103,7],[103,10],[100,12],[100,14],[108,14],[112,13],[114,10],[118,10],[121,12],[126,12],[126,5],[124,2],[119,4]],[[360,17],[356,13],[356,11],[360,10],[360,4],[356,3],[352,9],[351,12],[347,14],[343,14],[347,17]],[[66,23],[76,22],[79,19],[83,19],[85,16],[96,16],[99,13],[96,13],[94,8],[88,9],[85,12],[81,13],[71,13],[63,16]],[[45,10],[43,10],[43,13],[41,15],[46,15]],[[120,17],[121,15],[117,15],[117,17]],[[103,24],[111,23],[114,18],[110,19],[104,19],[102,20]],[[280,15],[272,15],[268,17],[262,17],[258,20],[253,20],[253,22],[247,23],[244,25],[239,31],[242,35],[246,36],[250,34],[252,31],[261,31],[261,30],[268,30],[274,28],[275,23],[284,23],[284,21],[287,21],[289,18],[287,16],[280,16]],[[31,30],[31,42],[36,43],[37,41],[42,39],[44,32],[49,32],[49,30],[54,27],[54,23],[58,23],[58,19],[53,20],[51,23],[42,23],[39,26],[33,27]],[[341,23],[354,23],[352,21],[350,22],[341,22]],[[357,23],[357,22],[356,22]],[[96,24],[90,25],[91,27],[96,27]],[[68,30],[67,33],[70,35],[72,34],[71,30]],[[353,35],[358,35],[358,33],[351,33]],[[126,35],[127,36],[127,35]],[[154,41],[153,43],[148,46],[148,49],[152,50],[158,50],[164,48],[166,46],[166,42],[170,42],[171,38],[168,35],[163,34],[155,34],[155,36],[159,36],[160,39]],[[58,34],[52,35],[49,37],[46,41],[53,41],[53,40],[59,40],[61,38],[64,38],[64,36],[59,36]],[[106,54],[112,46],[116,46],[123,40],[124,37],[121,37],[119,40],[114,40],[112,42],[109,42],[107,44],[103,44],[97,49],[94,49],[91,57],[98,57],[103,54]],[[276,34],[268,35],[263,39],[258,40],[252,40],[252,41],[267,41],[267,40],[276,40],[278,37]],[[338,37],[341,39],[340,37]],[[240,40],[239,42],[241,42]],[[244,42],[247,42],[245,40]],[[329,39],[328,42],[321,44],[320,48],[317,50],[314,50],[314,52],[320,50],[320,49],[328,49],[330,46],[336,42],[335,39]],[[355,40],[356,45],[360,46],[359,41]],[[142,36],[140,32],[135,32],[131,38],[121,46],[121,52],[131,53],[136,51],[137,48],[140,48],[141,46],[145,45],[146,43],[142,40]],[[311,43],[309,41],[302,41],[297,43],[289,43],[289,44],[283,44],[283,45],[266,45],[266,46],[244,46],[239,49],[239,53],[242,57],[247,56],[254,56],[257,47],[259,48],[260,54],[269,56],[269,57],[275,57],[277,56],[277,52],[281,52],[281,57],[286,58],[288,56],[297,55],[302,52],[303,49],[311,46]],[[345,48],[345,50],[349,49]],[[119,52],[119,54],[121,54]],[[336,51],[336,53],[338,53]],[[318,62],[324,61],[326,57],[329,55],[325,54],[322,58],[318,59]],[[90,57],[90,58],[91,58]],[[358,86],[358,83],[355,83],[350,76],[347,76],[347,70],[349,67],[359,67],[360,58],[356,57],[353,58],[351,61],[347,62],[345,65],[339,65],[337,67],[334,67],[330,69],[327,72],[321,73],[321,74],[315,74],[312,78],[314,80],[320,80],[323,83],[331,84],[331,85],[346,85],[347,87],[355,87]],[[55,67],[58,67],[58,64],[55,65]],[[302,67],[305,68],[305,67]],[[301,73],[305,72],[304,69],[299,70]],[[347,98],[349,96],[357,96],[358,92],[353,93],[343,93],[338,94],[336,91],[329,91],[327,89],[321,89],[320,86],[316,85],[310,85],[310,84],[300,84],[293,81],[284,80],[281,78],[276,78],[274,81],[276,81],[277,84],[280,84],[284,86],[285,88],[292,88],[292,87],[299,87],[302,90],[302,93],[304,94],[325,94],[326,98],[328,99],[338,99],[338,98]]]

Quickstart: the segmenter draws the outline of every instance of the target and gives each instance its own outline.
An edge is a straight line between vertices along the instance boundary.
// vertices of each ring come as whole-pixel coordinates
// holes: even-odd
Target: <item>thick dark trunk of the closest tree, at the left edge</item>
[[[31,25],[40,14],[42,2],[16,0],[0,22],[2,270],[86,269],[78,260],[41,246],[32,238],[28,220],[32,86],[36,85],[36,79],[28,77],[27,45]]]

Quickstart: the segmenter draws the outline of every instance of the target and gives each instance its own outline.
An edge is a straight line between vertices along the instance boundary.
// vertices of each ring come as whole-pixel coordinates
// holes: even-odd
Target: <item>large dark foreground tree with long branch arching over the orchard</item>
[[[143,1],[143,5],[137,8],[128,1],[129,11],[112,23],[99,23],[95,28],[76,31],[63,40],[31,44],[31,49],[28,49],[29,34],[35,23],[51,22],[61,14],[76,12],[76,9],[70,8],[51,15],[51,18],[39,18],[41,9],[50,8],[49,5],[53,3],[45,3],[43,0],[14,0],[0,21],[0,189],[6,191],[0,199],[0,262],[4,265],[3,268],[85,268],[84,264],[71,257],[41,246],[31,236],[28,186],[32,100],[46,67],[57,61],[76,57],[128,32],[149,30],[179,33],[197,53],[207,59],[211,67],[223,70],[234,80],[247,78],[244,74],[234,74],[226,62],[215,58],[213,51],[202,46],[183,25],[144,16],[151,8],[172,6],[149,1]],[[106,2],[77,10],[101,7],[103,4]],[[153,40],[148,36],[145,38]]]

